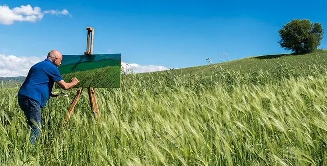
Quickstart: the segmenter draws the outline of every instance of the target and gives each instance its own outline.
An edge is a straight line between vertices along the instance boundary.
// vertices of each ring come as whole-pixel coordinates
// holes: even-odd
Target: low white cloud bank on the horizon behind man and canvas
[[[0,77],[27,76],[29,69],[36,63],[44,60],[45,57],[17,57],[14,55],[0,54]],[[121,63],[123,70],[130,74],[143,72],[154,72],[168,70],[164,66],[148,65],[142,66],[135,63]]]

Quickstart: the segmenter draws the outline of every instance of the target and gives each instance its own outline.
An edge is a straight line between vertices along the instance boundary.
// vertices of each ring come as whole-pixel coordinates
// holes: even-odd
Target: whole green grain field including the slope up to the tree
[[[1,166],[326,166],[327,51],[122,75],[120,89],[50,99],[29,143],[17,88],[0,89]],[[64,90],[56,90],[62,91]]]

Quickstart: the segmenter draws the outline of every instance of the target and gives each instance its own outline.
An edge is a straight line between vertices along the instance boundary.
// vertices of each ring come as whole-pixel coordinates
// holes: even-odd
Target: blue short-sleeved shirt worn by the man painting
[[[18,94],[38,101],[41,108],[44,108],[49,100],[53,84],[60,80],[62,77],[57,66],[45,59],[31,67]]]

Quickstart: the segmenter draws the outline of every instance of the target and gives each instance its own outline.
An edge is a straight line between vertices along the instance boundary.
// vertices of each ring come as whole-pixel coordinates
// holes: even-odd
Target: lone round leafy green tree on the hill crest
[[[323,39],[324,30],[320,23],[312,24],[309,20],[294,19],[279,31],[281,37],[278,43],[285,50],[292,50],[296,54],[315,51]]]

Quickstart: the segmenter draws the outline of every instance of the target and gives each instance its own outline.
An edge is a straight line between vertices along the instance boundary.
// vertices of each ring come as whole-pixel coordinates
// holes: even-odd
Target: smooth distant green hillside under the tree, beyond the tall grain
[[[280,65],[288,65],[290,68],[302,70],[308,69],[308,66],[312,65],[325,65],[327,61],[327,50],[319,50],[315,53],[304,55],[291,55],[291,54],[277,54],[277,55],[263,55],[253,56],[242,59],[237,59],[229,62],[216,63],[211,65],[189,67],[183,69],[175,69],[175,74],[200,74],[201,72],[208,75],[212,74],[212,71],[216,67],[222,67],[228,71],[251,73],[263,71],[274,71],[280,67]],[[151,72],[151,74],[160,74],[165,71]],[[147,75],[150,73],[142,73]]]

